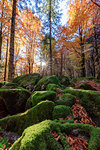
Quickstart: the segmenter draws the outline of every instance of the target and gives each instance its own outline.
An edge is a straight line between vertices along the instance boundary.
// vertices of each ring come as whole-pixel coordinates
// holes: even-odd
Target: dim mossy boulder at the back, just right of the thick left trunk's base
[[[19,86],[23,87],[23,88],[28,88],[30,90],[34,89],[34,85],[36,85],[36,83],[40,80],[40,74],[38,73],[34,73],[34,74],[26,74],[26,75],[21,75],[16,77],[13,80],[13,83],[17,83]]]

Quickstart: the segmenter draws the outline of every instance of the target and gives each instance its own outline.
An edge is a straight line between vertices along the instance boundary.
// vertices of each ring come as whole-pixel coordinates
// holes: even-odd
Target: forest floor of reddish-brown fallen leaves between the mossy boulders
[[[75,89],[77,89],[81,84],[87,83],[92,86],[96,91],[100,91],[100,83],[96,83],[94,80],[83,80],[75,83]],[[64,95],[62,90],[58,88],[58,100],[61,100],[61,97]],[[72,119],[74,117],[74,123],[83,123],[89,124],[96,127],[96,124],[92,121],[91,117],[88,115],[86,109],[80,104],[80,100],[75,96],[75,104],[71,107],[71,111],[73,113],[67,116],[66,118],[59,118],[59,121],[62,121],[62,124],[65,124],[67,120]],[[0,116],[2,118],[2,116]],[[66,140],[69,142],[72,150],[88,150],[88,135],[79,136],[78,129],[73,130],[69,134],[65,134]],[[52,135],[59,142],[60,135],[58,133],[52,132]],[[84,138],[85,137],[85,138]],[[7,132],[5,130],[0,130],[0,150],[9,150],[9,147],[13,145],[13,143],[19,138],[18,134],[14,132]],[[99,141],[100,144],[100,141]]]

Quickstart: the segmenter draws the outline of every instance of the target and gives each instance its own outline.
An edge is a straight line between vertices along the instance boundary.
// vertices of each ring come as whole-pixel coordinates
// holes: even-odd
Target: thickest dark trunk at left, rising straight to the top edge
[[[8,64],[8,81],[12,81],[14,78],[14,37],[15,37],[16,5],[17,5],[17,0],[13,0],[11,33],[10,33],[9,64]]]

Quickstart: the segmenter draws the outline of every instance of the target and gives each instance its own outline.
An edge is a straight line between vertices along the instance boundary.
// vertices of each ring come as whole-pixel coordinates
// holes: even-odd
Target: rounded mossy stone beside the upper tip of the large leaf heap
[[[66,105],[71,107],[75,103],[75,98],[72,94],[66,93],[61,97],[61,100],[56,103],[58,105]]]

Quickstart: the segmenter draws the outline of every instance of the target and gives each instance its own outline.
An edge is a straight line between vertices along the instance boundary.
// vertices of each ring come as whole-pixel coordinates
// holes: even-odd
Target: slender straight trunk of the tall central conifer
[[[51,42],[51,0],[49,3],[49,39],[50,39],[50,75],[52,75],[52,42]]]

